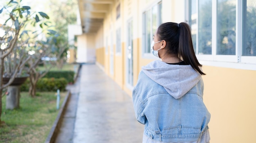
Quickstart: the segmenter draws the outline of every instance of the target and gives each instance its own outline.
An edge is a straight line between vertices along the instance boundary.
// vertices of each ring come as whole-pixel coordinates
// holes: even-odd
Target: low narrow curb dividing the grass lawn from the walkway
[[[56,117],[56,119],[54,121],[52,129],[51,129],[50,133],[48,134],[48,137],[47,137],[45,143],[54,143],[54,141],[57,137],[58,131],[61,127],[61,122],[62,122],[62,119],[63,119],[63,115],[65,113],[67,103],[70,100],[70,96],[71,96],[71,93],[70,93],[70,91],[68,91],[68,93],[65,97],[65,100],[63,101],[63,104],[62,104],[60,110],[58,111],[58,116]]]

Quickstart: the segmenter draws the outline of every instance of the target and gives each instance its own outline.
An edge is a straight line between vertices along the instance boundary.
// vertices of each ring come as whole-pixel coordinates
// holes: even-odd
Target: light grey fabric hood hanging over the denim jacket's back
[[[202,77],[191,65],[169,65],[162,61],[153,61],[143,66],[142,71],[175,99],[185,95]]]

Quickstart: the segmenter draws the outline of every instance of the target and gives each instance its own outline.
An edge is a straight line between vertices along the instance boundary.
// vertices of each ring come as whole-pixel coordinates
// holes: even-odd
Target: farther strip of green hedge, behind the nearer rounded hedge
[[[49,71],[44,78],[65,78],[68,83],[73,83],[74,75],[74,71]]]

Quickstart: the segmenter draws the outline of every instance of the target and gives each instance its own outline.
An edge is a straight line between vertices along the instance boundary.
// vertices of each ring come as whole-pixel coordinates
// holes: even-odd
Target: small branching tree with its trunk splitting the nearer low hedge
[[[35,50],[35,54],[32,55],[32,58],[29,59],[29,80],[30,80],[30,87],[29,87],[29,95],[34,97],[36,95],[36,83],[40,78],[45,76],[49,70],[56,65],[57,61],[64,60],[65,56],[63,53],[67,50],[62,44],[62,40],[58,40],[61,36],[55,34],[55,31],[48,30],[51,34],[51,37],[48,37],[46,41],[37,41],[33,50]],[[49,61],[42,60],[43,57],[49,57]],[[37,70],[39,64],[43,64],[45,67],[44,71]]]

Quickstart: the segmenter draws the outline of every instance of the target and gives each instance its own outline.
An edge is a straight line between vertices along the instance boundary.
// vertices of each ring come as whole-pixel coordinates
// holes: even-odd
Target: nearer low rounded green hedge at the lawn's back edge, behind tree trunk
[[[65,78],[40,78],[36,83],[36,91],[65,91],[67,86],[67,80]],[[30,81],[29,79],[21,85],[21,91],[29,91]]]

